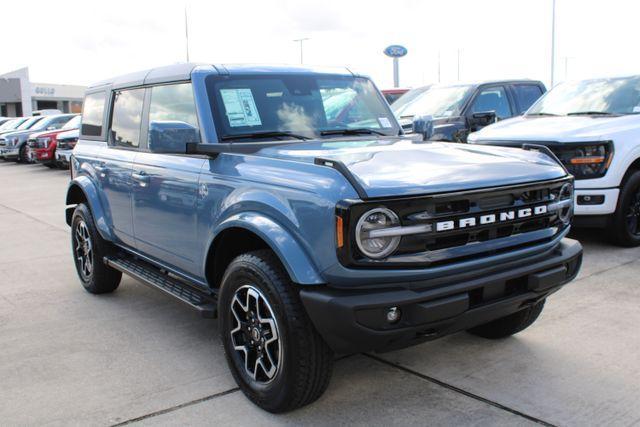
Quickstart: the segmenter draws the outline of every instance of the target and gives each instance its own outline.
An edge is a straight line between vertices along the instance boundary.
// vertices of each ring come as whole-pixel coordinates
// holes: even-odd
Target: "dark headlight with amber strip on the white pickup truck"
[[[576,179],[600,178],[613,160],[611,141],[588,144],[566,144],[553,150]]]

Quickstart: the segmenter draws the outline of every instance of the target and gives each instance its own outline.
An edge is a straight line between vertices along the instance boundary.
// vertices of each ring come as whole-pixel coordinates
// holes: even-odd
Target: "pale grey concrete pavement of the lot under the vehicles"
[[[274,416],[237,390],[216,321],[129,278],[82,290],[68,179],[0,161],[2,425],[640,425],[640,249],[604,232],[576,236],[578,280],[517,337],[342,358],[317,403]]]

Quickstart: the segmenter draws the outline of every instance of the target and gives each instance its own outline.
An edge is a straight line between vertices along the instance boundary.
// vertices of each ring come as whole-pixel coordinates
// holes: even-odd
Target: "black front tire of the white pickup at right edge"
[[[635,211],[636,215],[640,215],[640,171],[634,172],[625,182],[618,196],[618,206],[614,212],[611,223],[610,233],[614,244],[619,246],[633,247],[640,245],[640,224],[636,229],[637,233],[633,233],[627,224],[627,215],[630,211]],[[636,217],[636,221],[640,222],[640,218]]]

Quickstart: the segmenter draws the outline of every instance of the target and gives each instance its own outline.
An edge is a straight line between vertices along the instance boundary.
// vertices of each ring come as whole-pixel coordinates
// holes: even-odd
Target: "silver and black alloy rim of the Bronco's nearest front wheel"
[[[269,302],[256,287],[242,286],[231,300],[231,315],[231,343],[245,373],[258,383],[270,383],[280,367],[282,345]]]

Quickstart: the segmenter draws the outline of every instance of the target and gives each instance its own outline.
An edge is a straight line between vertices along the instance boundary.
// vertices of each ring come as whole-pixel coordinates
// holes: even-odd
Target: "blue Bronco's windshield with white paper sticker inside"
[[[299,74],[209,76],[206,85],[221,139],[256,134],[283,136],[278,133],[304,139],[341,132],[399,132],[384,98],[365,78]]]

